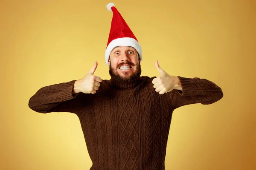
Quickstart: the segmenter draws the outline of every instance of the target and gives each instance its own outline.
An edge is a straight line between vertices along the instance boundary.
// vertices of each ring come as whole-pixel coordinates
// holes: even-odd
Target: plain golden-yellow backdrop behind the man
[[[224,97],[173,113],[166,170],[256,169],[254,0],[0,0],[0,169],[88,170],[78,117],[36,113],[41,87],[95,75],[116,8],[143,48],[142,75],[205,78]]]

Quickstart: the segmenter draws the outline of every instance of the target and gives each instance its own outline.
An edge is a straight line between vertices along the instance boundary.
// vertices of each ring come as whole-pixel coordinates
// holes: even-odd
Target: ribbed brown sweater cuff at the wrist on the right
[[[177,76],[180,79],[180,84],[182,91],[177,90],[180,95],[185,95],[185,96],[193,96],[194,95],[194,89],[192,86],[192,79],[191,78],[186,78],[186,77],[180,77]]]

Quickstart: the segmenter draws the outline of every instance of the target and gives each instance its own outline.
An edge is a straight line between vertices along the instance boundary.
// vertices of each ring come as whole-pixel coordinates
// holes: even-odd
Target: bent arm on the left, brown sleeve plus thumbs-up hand
[[[79,107],[86,105],[86,95],[95,94],[99,89],[102,79],[93,75],[98,63],[79,80],[72,80],[55,85],[49,85],[39,89],[30,99],[29,108],[39,113],[71,112],[78,111]],[[75,99],[83,96],[83,99]],[[81,103],[79,103],[81,102]]]

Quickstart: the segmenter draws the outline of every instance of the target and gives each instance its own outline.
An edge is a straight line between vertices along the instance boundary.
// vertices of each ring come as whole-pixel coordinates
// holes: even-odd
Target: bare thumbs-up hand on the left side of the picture
[[[99,89],[100,82],[102,82],[100,77],[93,75],[97,66],[98,62],[95,62],[90,71],[82,79],[76,80],[72,94],[80,92],[85,94],[96,93],[96,91]]]

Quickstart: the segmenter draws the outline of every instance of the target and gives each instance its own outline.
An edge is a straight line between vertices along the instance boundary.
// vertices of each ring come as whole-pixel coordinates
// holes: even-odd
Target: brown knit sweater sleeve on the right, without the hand
[[[182,91],[174,89],[166,95],[167,102],[172,105],[173,109],[196,103],[209,105],[223,97],[222,89],[207,79],[180,76],[178,78],[180,79]]]

